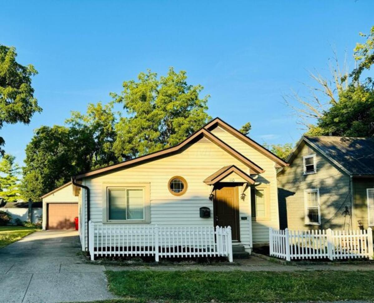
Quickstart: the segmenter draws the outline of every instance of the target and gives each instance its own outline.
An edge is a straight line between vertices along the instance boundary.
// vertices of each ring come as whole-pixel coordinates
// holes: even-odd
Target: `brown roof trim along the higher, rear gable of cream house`
[[[224,130],[228,131],[233,136],[237,137],[238,139],[242,140],[243,142],[247,143],[249,146],[252,146],[257,151],[261,152],[261,154],[265,155],[266,157],[273,160],[279,167],[288,166],[289,164],[279,158],[277,155],[273,154],[268,149],[264,148],[261,144],[257,143],[255,140],[247,137],[245,134],[240,133],[240,131],[236,130],[236,128],[232,127],[230,124],[224,122],[220,118],[215,118],[211,122],[205,125],[207,130],[212,130],[215,125],[219,125]]]

